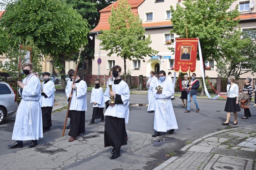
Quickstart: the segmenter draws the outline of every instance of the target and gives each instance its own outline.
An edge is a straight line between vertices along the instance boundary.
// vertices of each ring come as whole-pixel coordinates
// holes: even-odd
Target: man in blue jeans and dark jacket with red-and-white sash
[[[197,107],[196,113],[200,111],[197,103],[197,89],[199,88],[199,81],[196,79],[196,74],[193,73],[191,76],[191,82],[188,83],[188,94],[187,94],[187,111],[184,113],[190,113],[190,94],[193,98],[193,101]]]

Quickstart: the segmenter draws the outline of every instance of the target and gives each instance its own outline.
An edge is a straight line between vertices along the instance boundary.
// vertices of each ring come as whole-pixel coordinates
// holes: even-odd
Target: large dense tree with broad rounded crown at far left
[[[64,88],[65,61],[79,51],[81,44],[87,45],[89,29],[87,21],[63,1],[18,0],[7,4],[0,31],[4,36],[0,48],[5,44],[15,49],[30,39],[41,54],[51,56]]]

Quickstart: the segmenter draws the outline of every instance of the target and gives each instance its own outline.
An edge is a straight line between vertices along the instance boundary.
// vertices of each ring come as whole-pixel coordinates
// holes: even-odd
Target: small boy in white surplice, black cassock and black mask
[[[95,79],[95,87],[91,90],[91,103],[93,103],[93,115],[89,124],[95,124],[95,119],[101,119],[100,123],[105,122],[103,109],[105,107],[103,90],[100,87],[100,79]]]

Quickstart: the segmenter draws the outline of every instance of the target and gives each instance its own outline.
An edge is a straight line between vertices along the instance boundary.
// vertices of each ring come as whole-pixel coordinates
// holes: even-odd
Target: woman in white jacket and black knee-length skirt
[[[237,124],[237,112],[241,112],[239,100],[238,100],[238,93],[239,93],[239,87],[234,82],[236,81],[236,78],[234,76],[228,77],[228,85],[227,85],[227,92],[220,93],[221,95],[228,95],[227,102],[225,105],[224,111],[227,112],[227,120],[224,123],[221,123],[222,125],[229,125],[229,118],[230,118],[230,112],[234,113],[234,122],[233,125]]]

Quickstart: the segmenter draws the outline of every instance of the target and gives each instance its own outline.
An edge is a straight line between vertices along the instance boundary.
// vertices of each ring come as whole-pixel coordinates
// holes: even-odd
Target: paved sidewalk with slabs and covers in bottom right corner
[[[67,99],[62,96],[56,96],[55,103],[53,111],[67,105]],[[223,126],[223,128],[230,127]],[[97,129],[97,131],[99,131],[99,129]],[[103,131],[103,129],[101,129],[101,131]],[[90,137],[91,135],[92,134],[85,136]],[[256,125],[222,130],[203,136],[186,145],[180,150],[179,156],[174,155],[155,168],[155,170],[252,170],[256,163],[255,136]]]

